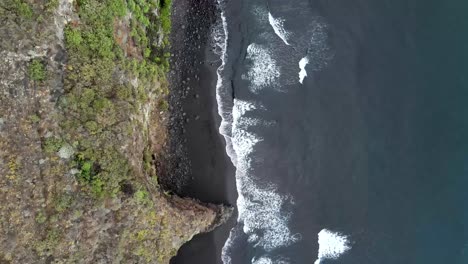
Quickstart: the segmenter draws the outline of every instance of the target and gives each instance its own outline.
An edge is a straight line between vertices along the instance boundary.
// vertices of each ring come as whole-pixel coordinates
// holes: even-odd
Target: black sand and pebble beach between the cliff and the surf
[[[210,50],[210,28],[216,22],[216,1],[181,0],[173,3],[171,61],[171,149],[176,174],[172,189],[181,196],[202,202],[234,205],[234,167],[218,133],[220,118],[216,105],[216,68]],[[213,232],[194,237],[171,261],[221,263],[221,249],[235,217]]]

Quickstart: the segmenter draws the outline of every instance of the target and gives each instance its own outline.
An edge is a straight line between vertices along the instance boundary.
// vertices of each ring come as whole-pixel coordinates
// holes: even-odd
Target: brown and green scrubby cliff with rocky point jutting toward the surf
[[[230,214],[161,190],[170,2],[0,3],[0,263],[168,263]]]

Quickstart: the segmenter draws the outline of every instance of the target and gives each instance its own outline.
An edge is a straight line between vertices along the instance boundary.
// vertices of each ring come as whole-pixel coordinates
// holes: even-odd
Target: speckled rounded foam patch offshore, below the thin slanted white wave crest
[[[247,77],[251,82],[249,86],[252,92],[259,92],[266,87],[274,87],[280,77],[280,68],[276,65],[276,60],[270,51],[263,45],[252,43],[247,47],[247,59],[252,65],[247,71]]]

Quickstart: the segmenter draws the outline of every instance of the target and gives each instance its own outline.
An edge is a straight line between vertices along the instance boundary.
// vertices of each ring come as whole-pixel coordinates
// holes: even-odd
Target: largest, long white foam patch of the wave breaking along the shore
[[[261,120],[245,116],[255,109],[265,108],[260,104],[237,99],[234,101],[232,142],[238,157],[238,219],[243,223],[243,231],[248,235],[249,242],[270,251],[289,245],[298,237],[291,234],[287,226],[289,214],[281,210],[284,203],[291,200],[290,197],[279,194],[274,185],[260,186],[252,175],[254,147],[263,139],[248,129],[265,124]]]

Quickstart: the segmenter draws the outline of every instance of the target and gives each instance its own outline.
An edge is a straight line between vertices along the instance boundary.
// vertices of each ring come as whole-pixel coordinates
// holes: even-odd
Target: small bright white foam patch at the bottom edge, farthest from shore
[[[314,264],[320,264],[325,259],[337,259],[351,249],[347,236],[328,229],[318,233],[318,244],[318,258]]]

